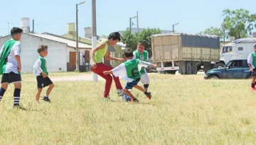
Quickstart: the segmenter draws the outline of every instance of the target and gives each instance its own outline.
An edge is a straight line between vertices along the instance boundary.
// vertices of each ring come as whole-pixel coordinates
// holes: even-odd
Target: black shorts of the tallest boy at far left
[[[11,71],[8,74],[2,74],[1,83],[16,83],[21,82],[21,75]]]

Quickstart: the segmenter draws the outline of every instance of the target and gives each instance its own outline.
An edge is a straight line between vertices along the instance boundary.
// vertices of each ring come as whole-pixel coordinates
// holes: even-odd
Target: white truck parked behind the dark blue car
[[[256,37],[240,38],[223,45],[220,50],[220,61],[216,62],[214,68],[221,68],[232,59],[247,59],[256,45]]]

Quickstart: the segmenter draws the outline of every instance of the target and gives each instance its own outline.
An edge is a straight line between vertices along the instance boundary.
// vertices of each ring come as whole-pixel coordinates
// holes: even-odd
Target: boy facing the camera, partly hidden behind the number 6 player
[[[149,62],[149,53],[145,50],[145,46],[142,42],[139,42],[137,44],[137,50],[135,50],[133,54],[133,59],[139,59],[144,62]],[[144,84],[144,89],[147,91],[149,88],[149,76],[146,74],[145,67],[142,67],[140,74],[142,74],[141,81]]]

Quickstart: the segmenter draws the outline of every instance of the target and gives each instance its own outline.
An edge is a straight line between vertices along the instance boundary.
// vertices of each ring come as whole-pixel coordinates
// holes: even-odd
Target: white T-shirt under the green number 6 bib
[[[128,61],[132,61],[132,60],[127,60]],[[138,64],[138,69],[139,71],[142,69],[142,67],[146,67],[149,66],[150,63],[149,62],[143,62],[141,60],[139,60],[139,64]],[[112,69],[114,76],[122,76],[122,79],[124,79],[127,82],[132,82],[134,81],[134,79],[128,78],[127,76],[127,69],[124,66],[124,63],[119,64],[119,66],[115,67],[114,69]]]

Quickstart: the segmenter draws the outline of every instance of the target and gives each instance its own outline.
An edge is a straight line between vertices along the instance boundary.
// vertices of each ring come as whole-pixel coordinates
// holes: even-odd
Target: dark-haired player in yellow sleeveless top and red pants
[[[112,84],[112,76],[110,74],[104,75],[103,71],[110,71],[113,68],[111,66],[107,66],[107,65],[103,64],[102,58],[105,57],[105,59],[116,60],[116,61],[120,61],[120,62],[125,61],[124,59],[121,59],[121,58],[119,59],[116,57],[110,57],[110,55],[107,53],[108,47],[116,45],[117,42],[119,42],[121,40],[120,37],[121,36],[118,32],[110,33],[108,40],[106,42],[100,43],[99,45],[97,45],[97,47],[95,47],[91,51],[92,58],[91,58],[90,64],[91,64],[92,72],[94,72],[95,74],[97,74],[99,76],[102,76],[102,78],[106,80],[105,91],[104,91],[104,95],[103,95],[104,99],[110,99],[109,93],[110,93],[110,87]],[[115,86],[117,88],[117,95],[119,95],[119,96],[124,95],[124,91],[122,90],[122,86],[119,81],[119,78],[113,76],[113,79],[114,79]]]

